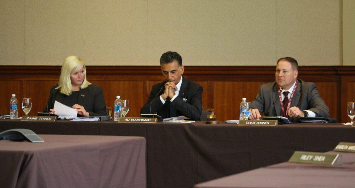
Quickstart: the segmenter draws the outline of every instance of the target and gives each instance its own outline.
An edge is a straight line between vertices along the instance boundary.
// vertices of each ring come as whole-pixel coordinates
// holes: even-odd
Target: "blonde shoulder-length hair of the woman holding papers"
[[[60,72],[59,85],[55,89],[60,88],[60,93],[65,95],[71,95],[73,87],[71,85],[70,76],[76,71],[82,69],[83,67],[84,67],[84,81],[80,85],[80,88],[84,89],[88,87],[88,85],[91,85],[91,83],[86,80],[86,67],[84,61],[81,60],[79,57],[72,55],[67,57],[64,60]]]

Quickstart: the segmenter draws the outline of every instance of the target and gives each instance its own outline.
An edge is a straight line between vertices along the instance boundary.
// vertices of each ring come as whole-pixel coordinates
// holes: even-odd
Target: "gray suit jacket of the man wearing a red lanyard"
[[[296,106],[300,110],[316,112],[317,117],[329,117],[328,106],[319,95],[316,84],[304,82],[301,79],[297,80],[298,86],[290,107]],[[255,100],[251,103],[252,109],[258,109],[260,114],[264,112],[265,116],[272,116],[272,111],[274,111],[274,116],[280,116],[281,105],[277,88],[276,82],[262,84]],[[276,103],[275,100],[277,100]],[[272,106],[274,103],[275,105]],[[299,120],[298,118],[290,118],[290,121],[298,122]]]

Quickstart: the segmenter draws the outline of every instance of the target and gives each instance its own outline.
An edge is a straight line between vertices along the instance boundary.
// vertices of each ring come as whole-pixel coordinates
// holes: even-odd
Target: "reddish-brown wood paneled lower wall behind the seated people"
[[[60,66],[0,66],[0,114],[9,114],[11,94],[32,98],[29,115],[43,111],[49,89],[59,80]],[[317,84],[318,91],[339,122],[349,122],[346,103],[355,101],[355,66],[301,66],[299,78]],[[217,120],[239,117],[243,97],[252,101],[263,83],[273,82],[273,66],[186,66],[184,76],[203,87],[203,107],[213,108]],[[107,106],[116,95],[130,100],[127,117],[138,117],[152,85],[163,80],[160,66],[87,66],[89,82],[100,85]]]

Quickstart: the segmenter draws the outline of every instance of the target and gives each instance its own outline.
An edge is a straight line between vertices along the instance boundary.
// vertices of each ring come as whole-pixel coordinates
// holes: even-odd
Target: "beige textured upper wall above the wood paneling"
[[[342,65],[340,0],[1,0],[0,65]]]

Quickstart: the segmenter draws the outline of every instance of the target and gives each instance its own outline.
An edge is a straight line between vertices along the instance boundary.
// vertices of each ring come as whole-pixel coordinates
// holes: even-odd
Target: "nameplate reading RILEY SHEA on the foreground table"
[[[298,162],[306,164],[317,164],[317,165],[334,165],[341,164],[338,160],[339,154],[325,154],[320,152],[307,152],[307,151],[295,151],[289,162]],[[337,161],[337,162],[335,162]]]

